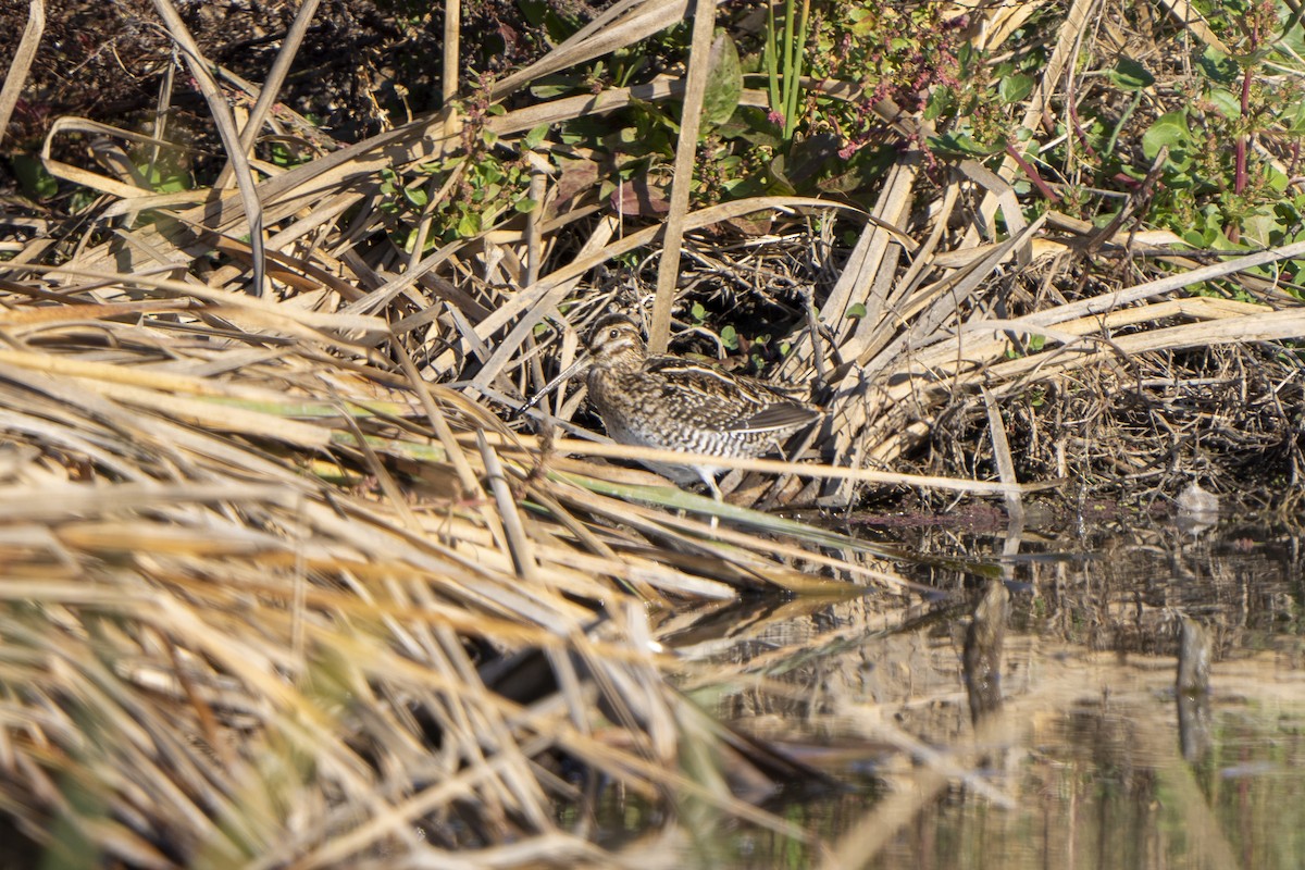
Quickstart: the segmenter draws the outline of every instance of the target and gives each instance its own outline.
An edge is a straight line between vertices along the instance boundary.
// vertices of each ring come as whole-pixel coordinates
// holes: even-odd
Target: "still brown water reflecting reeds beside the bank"
[[[1266,528],[914,528],[1001,577],[897,563],[919,587],[668,614],[683,689],[838,785],[771,796],[787,832],[681,813],[667,866],[1305,866],[1302,565]]]

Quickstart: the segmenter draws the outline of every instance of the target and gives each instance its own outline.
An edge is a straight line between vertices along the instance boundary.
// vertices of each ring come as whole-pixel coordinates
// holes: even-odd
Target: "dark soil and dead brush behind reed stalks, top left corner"
[[[205,57],[254,85],[266,78],[299,5],[286,0],[176,3]],[[166,98],[170,137],[204,145],[211,136],[207,107],[150,0],[50,4],[46,14],[40,48],[5,130],[7,155],[35,153],[50,125],[64,116],[150,129],[164,73],[174,64],[179,74]],[[26,3],[0,4],[0,61],[7,67],[26,21]],[[542,29],[526,21],[513,0],[465,3],[461,26],[463,91],[474,78],[471,70],[501,74],[548,47]],[[281,102],[345,142],[437,110],[442,34],[442,4],[322,0]],[[230,97],[248,99],[235,89]],[[68,137],[56,147],[80,151],[74,143],[76,137]],[[0,167],[0,190],[13,193],[9,160]]]

